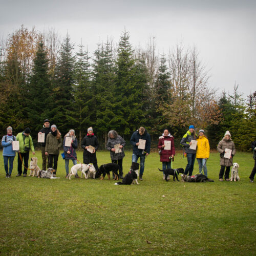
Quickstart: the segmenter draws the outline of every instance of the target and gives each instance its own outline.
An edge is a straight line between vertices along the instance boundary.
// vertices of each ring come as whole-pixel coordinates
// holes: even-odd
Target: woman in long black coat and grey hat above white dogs
[[[81,142],[81,147],[83,148],[83,163],[89,164],[93,163],[95,169],[97,172],[99,172],[99,167],[97,164],[97,157],[96,157],[96,151],[99,148],[99,142],[97,137],[93,133],[92,127],[89,127],[87,130],[88,134],[87,136],[84,136]],[[92,153],[90,153],[87,149],[89,146],[93,146],[94,150]]]

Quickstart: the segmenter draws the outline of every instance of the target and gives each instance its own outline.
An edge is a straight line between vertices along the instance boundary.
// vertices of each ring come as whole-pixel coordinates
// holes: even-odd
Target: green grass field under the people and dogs
[[[125,154],[124,175],[132,159]],[[40,152],[36,156],[41,167]],[[109,152],[97,152],[97,159],[98,165],[111,162]],[[58,180],[15,177],[17,157],[7,179],[1,157],[0,254],[255,255],[253,161],[252,154],[238,152],[241,181],[219,182],[219,154],[211,153],[208,177],[215,182],[165,182],[159,155],[152,153],[140,185],[115,186],[107,179],[65,179],[60,157]],[[173,167],[185,166],[178,153]]]

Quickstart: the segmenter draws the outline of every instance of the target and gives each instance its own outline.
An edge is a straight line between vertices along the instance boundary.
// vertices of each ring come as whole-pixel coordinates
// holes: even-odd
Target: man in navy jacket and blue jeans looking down
[[[144,149],[138,148],[138,146],[140,145],[140,142],[139,142],[140,139],[145,140]],[[138,159],[140,158],[139,179],[142,180],[142,175],[144,173],[144,166],[145,166],[145,157],[150,154],[150,145],[151,145],[150,135],[147,133],[144,127],[140,127],[139,130],[135,131],[132,134],[130,143],[133,145],[132,162],[137,163]]]

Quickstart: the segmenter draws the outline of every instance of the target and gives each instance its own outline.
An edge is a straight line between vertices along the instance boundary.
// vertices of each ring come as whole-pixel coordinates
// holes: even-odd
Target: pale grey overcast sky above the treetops
[[[134,48],[156,38],[159,53],[168,54],[178,41],[199,50],[209,70],[211,87],[229,93],[239,84],[244,97],[256,90],[256,1],[249,0],[0,0],[0,36],[20,28],[53,28],[63,38],[88,46],[119,41],[130,32]]]

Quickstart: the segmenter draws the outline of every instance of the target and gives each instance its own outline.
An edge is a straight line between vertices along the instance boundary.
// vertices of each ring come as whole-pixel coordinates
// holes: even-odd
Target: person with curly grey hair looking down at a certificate
[[[119,136],[115,130],[109,131],[108,138],[106,149],[110,151],[112,163],[117,163],[119,165],[119,178],[123,179],[123,158],[125,156],[123,147],[125,146],[125,140]]]

